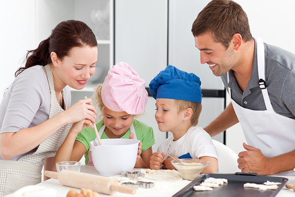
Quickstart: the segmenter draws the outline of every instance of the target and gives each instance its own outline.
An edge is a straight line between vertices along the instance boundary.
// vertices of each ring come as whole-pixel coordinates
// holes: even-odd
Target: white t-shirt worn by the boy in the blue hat
[[[218,159],[217,150],[210,135],[201,127],[193,126],[177,141],[173,141],[173,139],[173,135],[168,137],[159,146],[157,152],[165,152],[166,156],[169,153],[178,158],[189,153],[193,159],[203,156]]]

